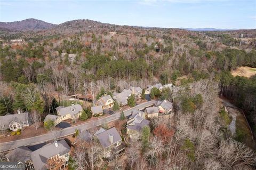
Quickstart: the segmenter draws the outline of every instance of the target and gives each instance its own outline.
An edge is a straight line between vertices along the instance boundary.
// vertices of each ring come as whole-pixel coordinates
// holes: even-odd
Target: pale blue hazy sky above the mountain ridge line
[[[0,0],[0,21],[90,19],[166,28],[256,28],[256,0]]]

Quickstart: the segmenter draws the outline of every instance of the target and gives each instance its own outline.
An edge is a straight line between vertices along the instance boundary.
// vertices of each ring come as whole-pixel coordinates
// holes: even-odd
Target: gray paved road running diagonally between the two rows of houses
[[[124,115],[129,116],[132,111],[135,112],[137,110],[142,110],[146,107],[152,106],[155,103],[156,103],[156,101],[152,100],[152,101],[148,101],[148,102],[139,104],[138,106],[135,106],[131,109],[125,110]],[[85,129],[89,129],[89,128],[92,128],[95,126],[100,126],[102,123],[108,123],[115,119],[119,119],[119,117],[120,117],[120,113],[117,113],[114,115],[110,115],[108,117],[100,118],[98,120],[92,120],[91,122],[86,122],[81,125],[67,127],[65,129],[60,129],[59,131],[55,131],[52,133],[47,133],[47,134],[30,137],[27,139],[21,139],[21,140],[17,140],[17,141],[1,143],[0,144],[1,145],[0,152],[12,150],[12,149],[21,147],[23,145],[33,145],[33,144],[43,143],[46,141],[50,141],[50,140],[54,139],[55,137],[57,137],[57,138],[65,137],[65,136],[74,134],[76,128],[81,129],[83,131]]]

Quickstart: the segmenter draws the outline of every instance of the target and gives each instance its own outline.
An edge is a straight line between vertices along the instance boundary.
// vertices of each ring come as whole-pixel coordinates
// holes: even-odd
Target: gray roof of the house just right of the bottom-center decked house
[[[135,115],[133,122],[129,123],[126,128],[133,129],[135,131],[141,131],[145,126],[149,125],[149,120],[143,119],[139,114]]]

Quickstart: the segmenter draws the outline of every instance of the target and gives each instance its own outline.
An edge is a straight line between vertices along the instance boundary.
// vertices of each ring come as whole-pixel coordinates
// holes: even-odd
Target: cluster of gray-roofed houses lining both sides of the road
[[[82,131],[76,129],[73,134],[75,140],[71,138],[71,141],[73,142],[70,141],[70,137],[64,137],[60,140],[53,137],[51,141],[44,143],[39,147],[33,147],[31,144],[30,146],[21,145],[14,150],[7,152],[5,155],[6,160],[22,161],[22,163],[26,165],[26,169],[66,169],[69,166],[70,154],[73,155],[73,153],[70,153],[70,150],[72,147],[75,147],[79,141],[89,144],[98,143],[102,151],[102,158],[105,158],[109,163],[113,160],[121,159],[121,157],[125,155],[125,148],[128,141],[139,140],[142,129],[149,127],[151,119],[157,118],[162,114],[168,115],[172,112],[173,108],[172,102],[167,100],[153,100],[154,102],[145,100],[141,104],[146,104],[147,102],[150,102],[151,104],[146,105],[146,107],[142,106],[140,107],[140,110],[138,109],[137,111],[133,111],[133,107],[130,107],[128,110],[131,111],[127,111],[127,113],[125,112],[126,116],[123,117],[122,114],[124,114],[124,112],[122,111],[122,108],[129,107],[128,101],[130,100],[131,95],[134,95],[135,99],[137,98],[136,100],[134,99],[135,102],[143,101],[141,99],[142,88],[131,86],[128,90],[124,90],[121,93],[114,92],[113,98],[111,95],[102,95],[98,100],[92,103],[92,107],[88,111],[84,111],[81,104],[75,104],[74,100],[71,100],[72,102],[70,103],[70,106],[56,107],[55,114],[46,115],[43,120],[45,128],[52,123],[52,128],[49,133],[58,131],[58,128],[60,128],[60,125],[63,123],[72,123],[70,127],[76,127],[76,122],[81,122],[83,113],[86,114],[86,112],[90,111],[92,117],[104,118],[106,117],[106,111],[104,110],[113,111],[114,102],[117,102],[120,110],[113,112],[115,115],[121,115],[118,116],[118,120],[114,119],[114,122],[117,121],[122,123],[122,128],[116,125],[111,125],[112,127],[103,127],[103,125],[107,125],[103,123],[101,126],[90,127]],[[87,116],[88,115],[86,114],[86,117]],[[88,119],[88,117],[86,119]],[[17,114],[1,116],[0,120],[1,127],[9,128],[12,131],[22,129],[22,131],[26,132],[26,127],[30,127],[30,125],[34,126],[35,124],[35,122],[33,122],[33,117],[29,117],[29,112],[21,112],[20,110],[17,111]],[[90,121],[93,122],[94,120]],[[108,124],[110,125],[111,122]],[[83,123],[79,126],[82,125]],[[62,128],[65,130],[65,128],[68,129],[70,127]],[[94,128],[98,128],[98,130],[92,131]]]

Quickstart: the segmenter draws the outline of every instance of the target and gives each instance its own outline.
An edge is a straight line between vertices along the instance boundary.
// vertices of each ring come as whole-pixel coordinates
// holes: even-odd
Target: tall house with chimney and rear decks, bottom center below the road
[[[97,137],[105,158],[121,156],[125,153],[125,147],[122,144],[122,138],[115,127],[105,129],[103,132],[95,135]]]

